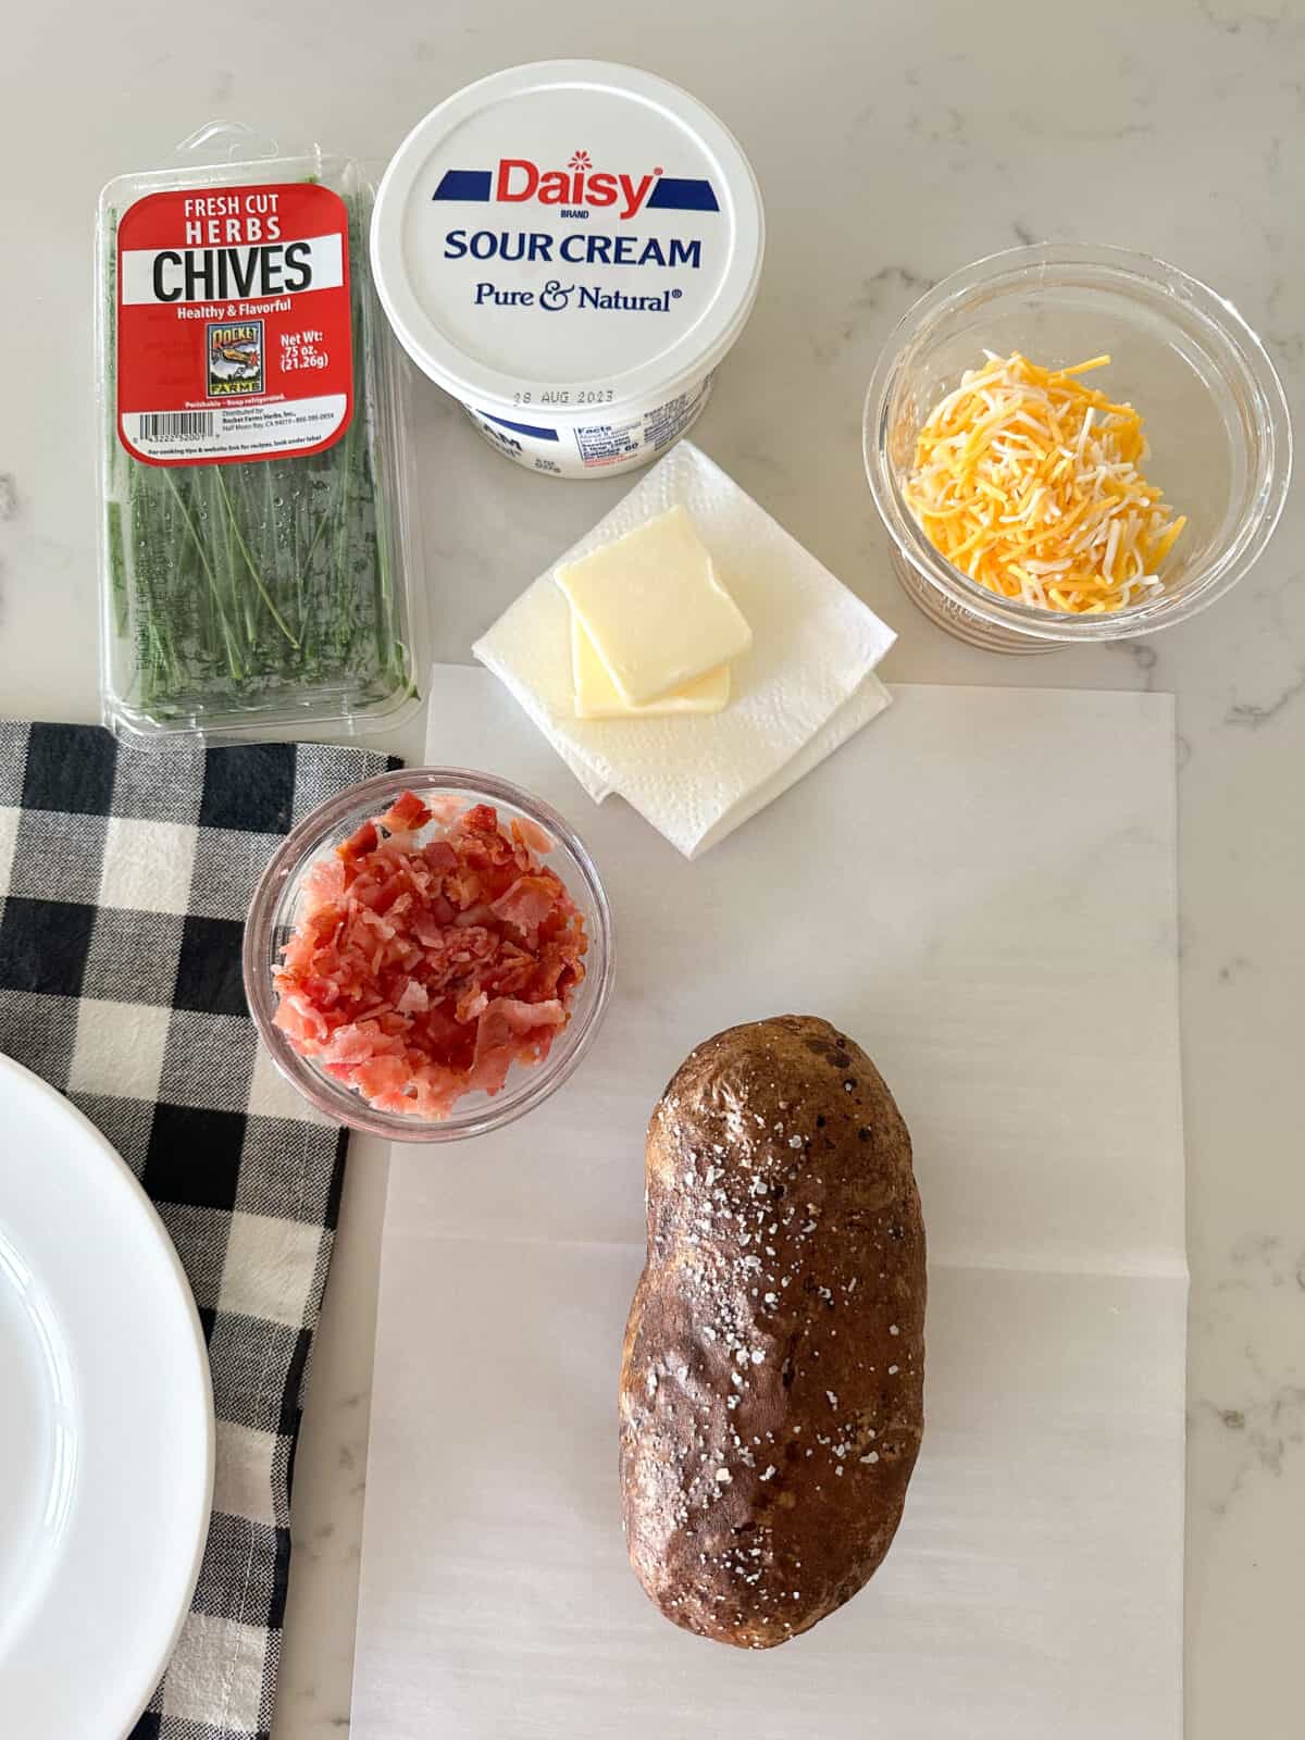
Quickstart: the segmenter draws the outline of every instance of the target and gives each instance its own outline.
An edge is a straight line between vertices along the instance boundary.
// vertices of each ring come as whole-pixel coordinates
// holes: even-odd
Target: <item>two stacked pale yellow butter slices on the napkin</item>
[[[684,508],[559,567],[557,583],[630,706],[684,689],[752,646]]]

